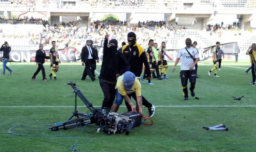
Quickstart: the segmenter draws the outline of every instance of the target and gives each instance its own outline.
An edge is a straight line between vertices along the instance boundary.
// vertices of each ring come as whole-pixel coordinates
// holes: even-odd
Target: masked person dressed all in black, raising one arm
[[[116,39],[111,39],[108,43],[108,35],[105,36],[99,80],[104,95],[102,108],[109,110],[116,96],[115,86],[117,77],[130,69],[124,54],[117,50],[117,44]]]

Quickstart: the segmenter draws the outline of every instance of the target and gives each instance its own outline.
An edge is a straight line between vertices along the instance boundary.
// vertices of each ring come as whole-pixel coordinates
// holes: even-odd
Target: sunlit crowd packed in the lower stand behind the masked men
[[[2,34],[2,32],[0,31],[0,38],[27,39],[26,44],[28,45],[50,45],[51,41],[56,41],[59,47],[61,48],[64,48],[65,46],[73,46],[79,50],[80,47],[82,48],[82,46],[85,44],[85,41],[87,39],[92,39],[94,45],[102,46],[104,41],[103,38],[106,34],[110,35],[109,38],[117,39],[118,44],[121,45],[122,42],[127,41],[127,33],[129,33],[130,31],[134,31],[137,34],[137,42],[146,48],[149,39],[154,39],[155,42],[159,43],[165,41],[166,44],[169,44],[169,46],[171,46],[171,44],[174,44],[174,39],[186,37],[186,35],[191,34],[191,31],[194,31],[192,29],[188,30],[186,27],[183,26],[179,27],[173,25],[169,27],[139,27],[138,25],[135,25],[131,28],[127,28],[125,21],[111,22],[99,20],[91,22],[91,25],[89,27],[80,27],[76,21],[68,23],[63,22],[60,25],[54,23],[53,26],[46,24],[45,26],[42,27],[43,29],[40,33],[33,33],[28,30],[27,34]],[[209,31],[209,36],[210,33],[211,31]],[[219,33],[221,35],[221,32],[217,32],[214,33],[212,37],[215,37]],[[207,33],[205,34],[207,35]]]

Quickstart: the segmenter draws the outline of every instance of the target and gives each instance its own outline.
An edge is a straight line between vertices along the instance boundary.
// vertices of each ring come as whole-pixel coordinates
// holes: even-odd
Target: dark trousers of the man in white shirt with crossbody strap
[[[184,97],[188,97],[188,79],[190,82],[190,89],[194,90],[196,85],[196,70],[181,70],[180,71],[181,85]]]

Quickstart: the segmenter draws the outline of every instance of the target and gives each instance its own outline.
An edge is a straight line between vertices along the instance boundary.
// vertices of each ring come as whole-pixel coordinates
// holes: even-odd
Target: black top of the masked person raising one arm
[[[99,79],[115,83],[116,74],[122,75],[129,70],[130,65],[124,54],[118,50],[110,51],[108,48],[108,40],[105,39]]]

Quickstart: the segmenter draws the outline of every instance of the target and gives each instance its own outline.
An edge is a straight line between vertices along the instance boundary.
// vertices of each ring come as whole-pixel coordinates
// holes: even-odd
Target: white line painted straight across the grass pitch
[[[86,108],[86,106],[77,106],[78,108]],[[101,106],[94,106],[101,107]],[[125,107],[125,106],[121,106]],[[192,108],[192,107],[256,107],[256,105],[248,106],[238,106],[238,105],[191,105],[191,106],[179,106],[179,105],[170,105],[170,106],[155,106],[155,107],[181,107],[181,108]],[[74,108],[74,106],[0,106],[0,108]]]

